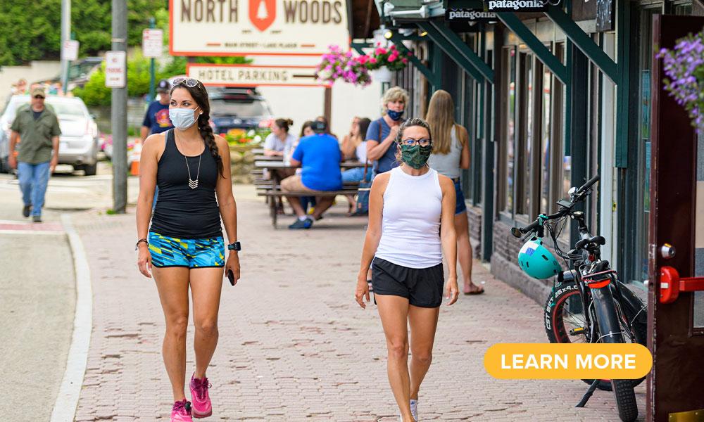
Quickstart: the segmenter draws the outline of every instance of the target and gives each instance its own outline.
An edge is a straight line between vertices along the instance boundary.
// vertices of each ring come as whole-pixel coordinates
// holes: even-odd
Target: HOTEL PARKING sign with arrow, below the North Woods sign
[[[218,87],[325,87],[315,66],[187,65],[189,77]]]

